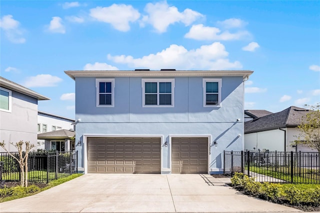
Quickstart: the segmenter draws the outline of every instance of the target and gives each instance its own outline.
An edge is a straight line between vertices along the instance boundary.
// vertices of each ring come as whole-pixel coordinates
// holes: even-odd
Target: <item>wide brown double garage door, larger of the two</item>
[[[88,137],[88,173],[160,173],[159,137]]]

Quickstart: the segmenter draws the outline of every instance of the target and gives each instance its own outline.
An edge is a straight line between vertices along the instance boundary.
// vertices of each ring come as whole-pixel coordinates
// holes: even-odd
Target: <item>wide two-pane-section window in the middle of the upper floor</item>
[[[142,78],[142,107],[173,107],[173,78]]]

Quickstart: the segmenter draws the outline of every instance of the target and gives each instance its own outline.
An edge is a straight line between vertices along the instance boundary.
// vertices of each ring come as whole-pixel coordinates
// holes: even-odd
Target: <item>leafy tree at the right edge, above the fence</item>
[[[297,126],[300,133],[295,143],[303,144],[320,152],[320,103],[316,106],[310,106],[310,108],[312,110],[302,117],[301,123]]]

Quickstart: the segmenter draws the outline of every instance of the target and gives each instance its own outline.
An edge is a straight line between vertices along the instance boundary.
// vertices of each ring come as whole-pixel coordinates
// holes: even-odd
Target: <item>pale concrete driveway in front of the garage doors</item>
[[[222,181],[221,181],[222,180]],[[0,203],[0,212],[291,212],[208,174],[85,174]]]

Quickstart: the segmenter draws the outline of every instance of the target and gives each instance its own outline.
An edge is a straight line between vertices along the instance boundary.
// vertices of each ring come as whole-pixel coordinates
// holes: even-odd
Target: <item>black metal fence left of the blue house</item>
[[[19,158],[18,152],[11,152]],[[0,152],[2,180],[20,181],[20,167],[7,152]],[[34,151],[28,153],[28,181],[50,182],[77,173],[77,151]]]

